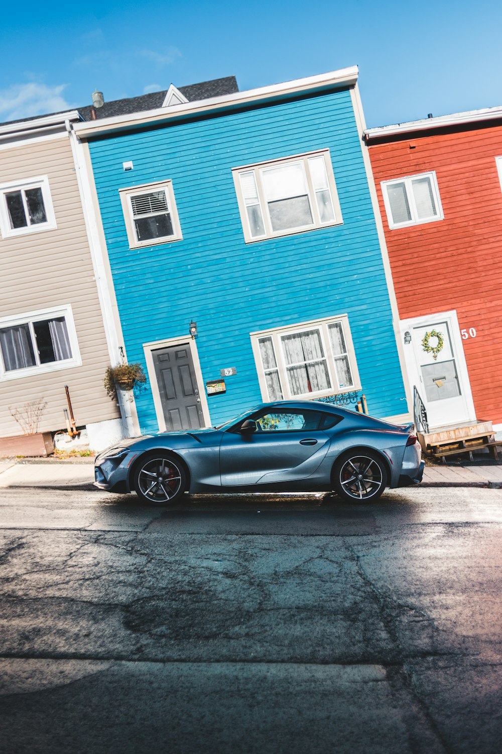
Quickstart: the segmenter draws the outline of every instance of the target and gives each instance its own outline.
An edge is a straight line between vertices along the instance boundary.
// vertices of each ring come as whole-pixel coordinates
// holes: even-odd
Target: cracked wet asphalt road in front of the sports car
[[[0,749],[500,751],[502,491],[0,490]]]

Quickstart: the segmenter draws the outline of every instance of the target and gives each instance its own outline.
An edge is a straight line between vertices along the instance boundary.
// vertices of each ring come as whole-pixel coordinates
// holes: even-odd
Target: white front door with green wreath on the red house
[[[429,428],[476,421],[456,311],[402,320],[401,334],[410,388],[425,404]]]

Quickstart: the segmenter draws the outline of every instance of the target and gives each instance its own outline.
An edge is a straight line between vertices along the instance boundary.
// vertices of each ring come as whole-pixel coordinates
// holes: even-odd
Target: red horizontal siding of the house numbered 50
[[[410,149],[410,146],[413,149]],[[502,126],[370,145],[401,319],[456,309],[478,418],[502,423]],[[388,227],[380,183],[435,170],[444,219]]]

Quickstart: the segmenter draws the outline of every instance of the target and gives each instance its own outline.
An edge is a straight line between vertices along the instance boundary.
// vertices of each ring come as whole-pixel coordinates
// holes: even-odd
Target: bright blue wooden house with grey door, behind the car
[[[362,393],[372,415],[408,418],[357,68],[177,92],[74,127],[123,347],[148,374],[141,432]]]

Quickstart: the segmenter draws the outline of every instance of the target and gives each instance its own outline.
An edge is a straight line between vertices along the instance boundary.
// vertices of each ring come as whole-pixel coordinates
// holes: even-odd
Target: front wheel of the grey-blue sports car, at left
[[[175,456],[154,451],[140,458],[132,476],[132,486],[143,503],[172,505],[187,489],[187,472]]]

